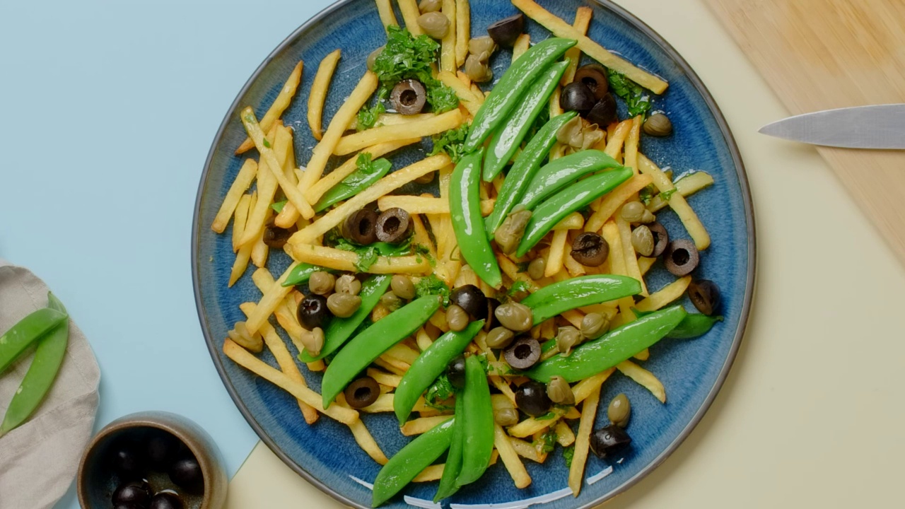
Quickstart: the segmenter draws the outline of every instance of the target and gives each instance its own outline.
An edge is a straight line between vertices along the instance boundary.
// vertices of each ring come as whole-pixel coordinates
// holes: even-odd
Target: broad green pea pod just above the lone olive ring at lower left
[[[329,407],[358,373],[397,342],[417,331],[439,308],[439,297],[425,295],[391,312],[348,341],[324,371],[320,384],[324,408]]]

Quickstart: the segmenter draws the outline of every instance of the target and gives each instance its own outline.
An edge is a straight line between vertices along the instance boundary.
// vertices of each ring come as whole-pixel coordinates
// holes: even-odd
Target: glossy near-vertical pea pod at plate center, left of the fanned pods
[[[481,150],[462,158],[452,170],[450,183],[450,215],[452,230],[462,257],[472,267],[475,274],[490,284],[500,288],[502,275],[496,255],[493,255],[491,239],[484,229],[481,216]]]

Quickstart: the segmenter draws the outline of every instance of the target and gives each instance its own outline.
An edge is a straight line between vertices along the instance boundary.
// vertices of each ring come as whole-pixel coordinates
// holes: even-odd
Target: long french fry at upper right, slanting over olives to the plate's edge
[[[589,57],[597,62],[603,63],[607,69],[616,72],[622,72],[626,78],[632,80],[655,93],[663,93],[669,86],[661,78],[654,76],[650,72],[635,67],[630,62],[614,55],[605,50],[603,46],[595,43],[585,34],[576,30],[572,25],[567,24],[554,14],[550,14],[546,9],[538,5],[534,0],[512,0],[512,5],[518,7],[529,18],[542,24],[557,37],[566,37],[567,39],[575,39],[578,41],[578,48],[581,49]]]

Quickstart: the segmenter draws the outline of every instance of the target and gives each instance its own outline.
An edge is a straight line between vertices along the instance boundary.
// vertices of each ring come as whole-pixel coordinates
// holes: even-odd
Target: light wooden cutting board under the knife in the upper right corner
[[[905,0],[705,2],[792,114],[905,102]],[[905,150],[818,151],[905,264]]]

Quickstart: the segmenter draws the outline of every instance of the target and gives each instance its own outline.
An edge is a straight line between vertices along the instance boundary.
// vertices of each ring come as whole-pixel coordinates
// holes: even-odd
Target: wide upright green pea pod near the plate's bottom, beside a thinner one
[[[465,359],[464,435],[462,472],[455,484],[470,485],[484,475],[493,453],[493,405],[491,388],[481,361],[474,355]]]

